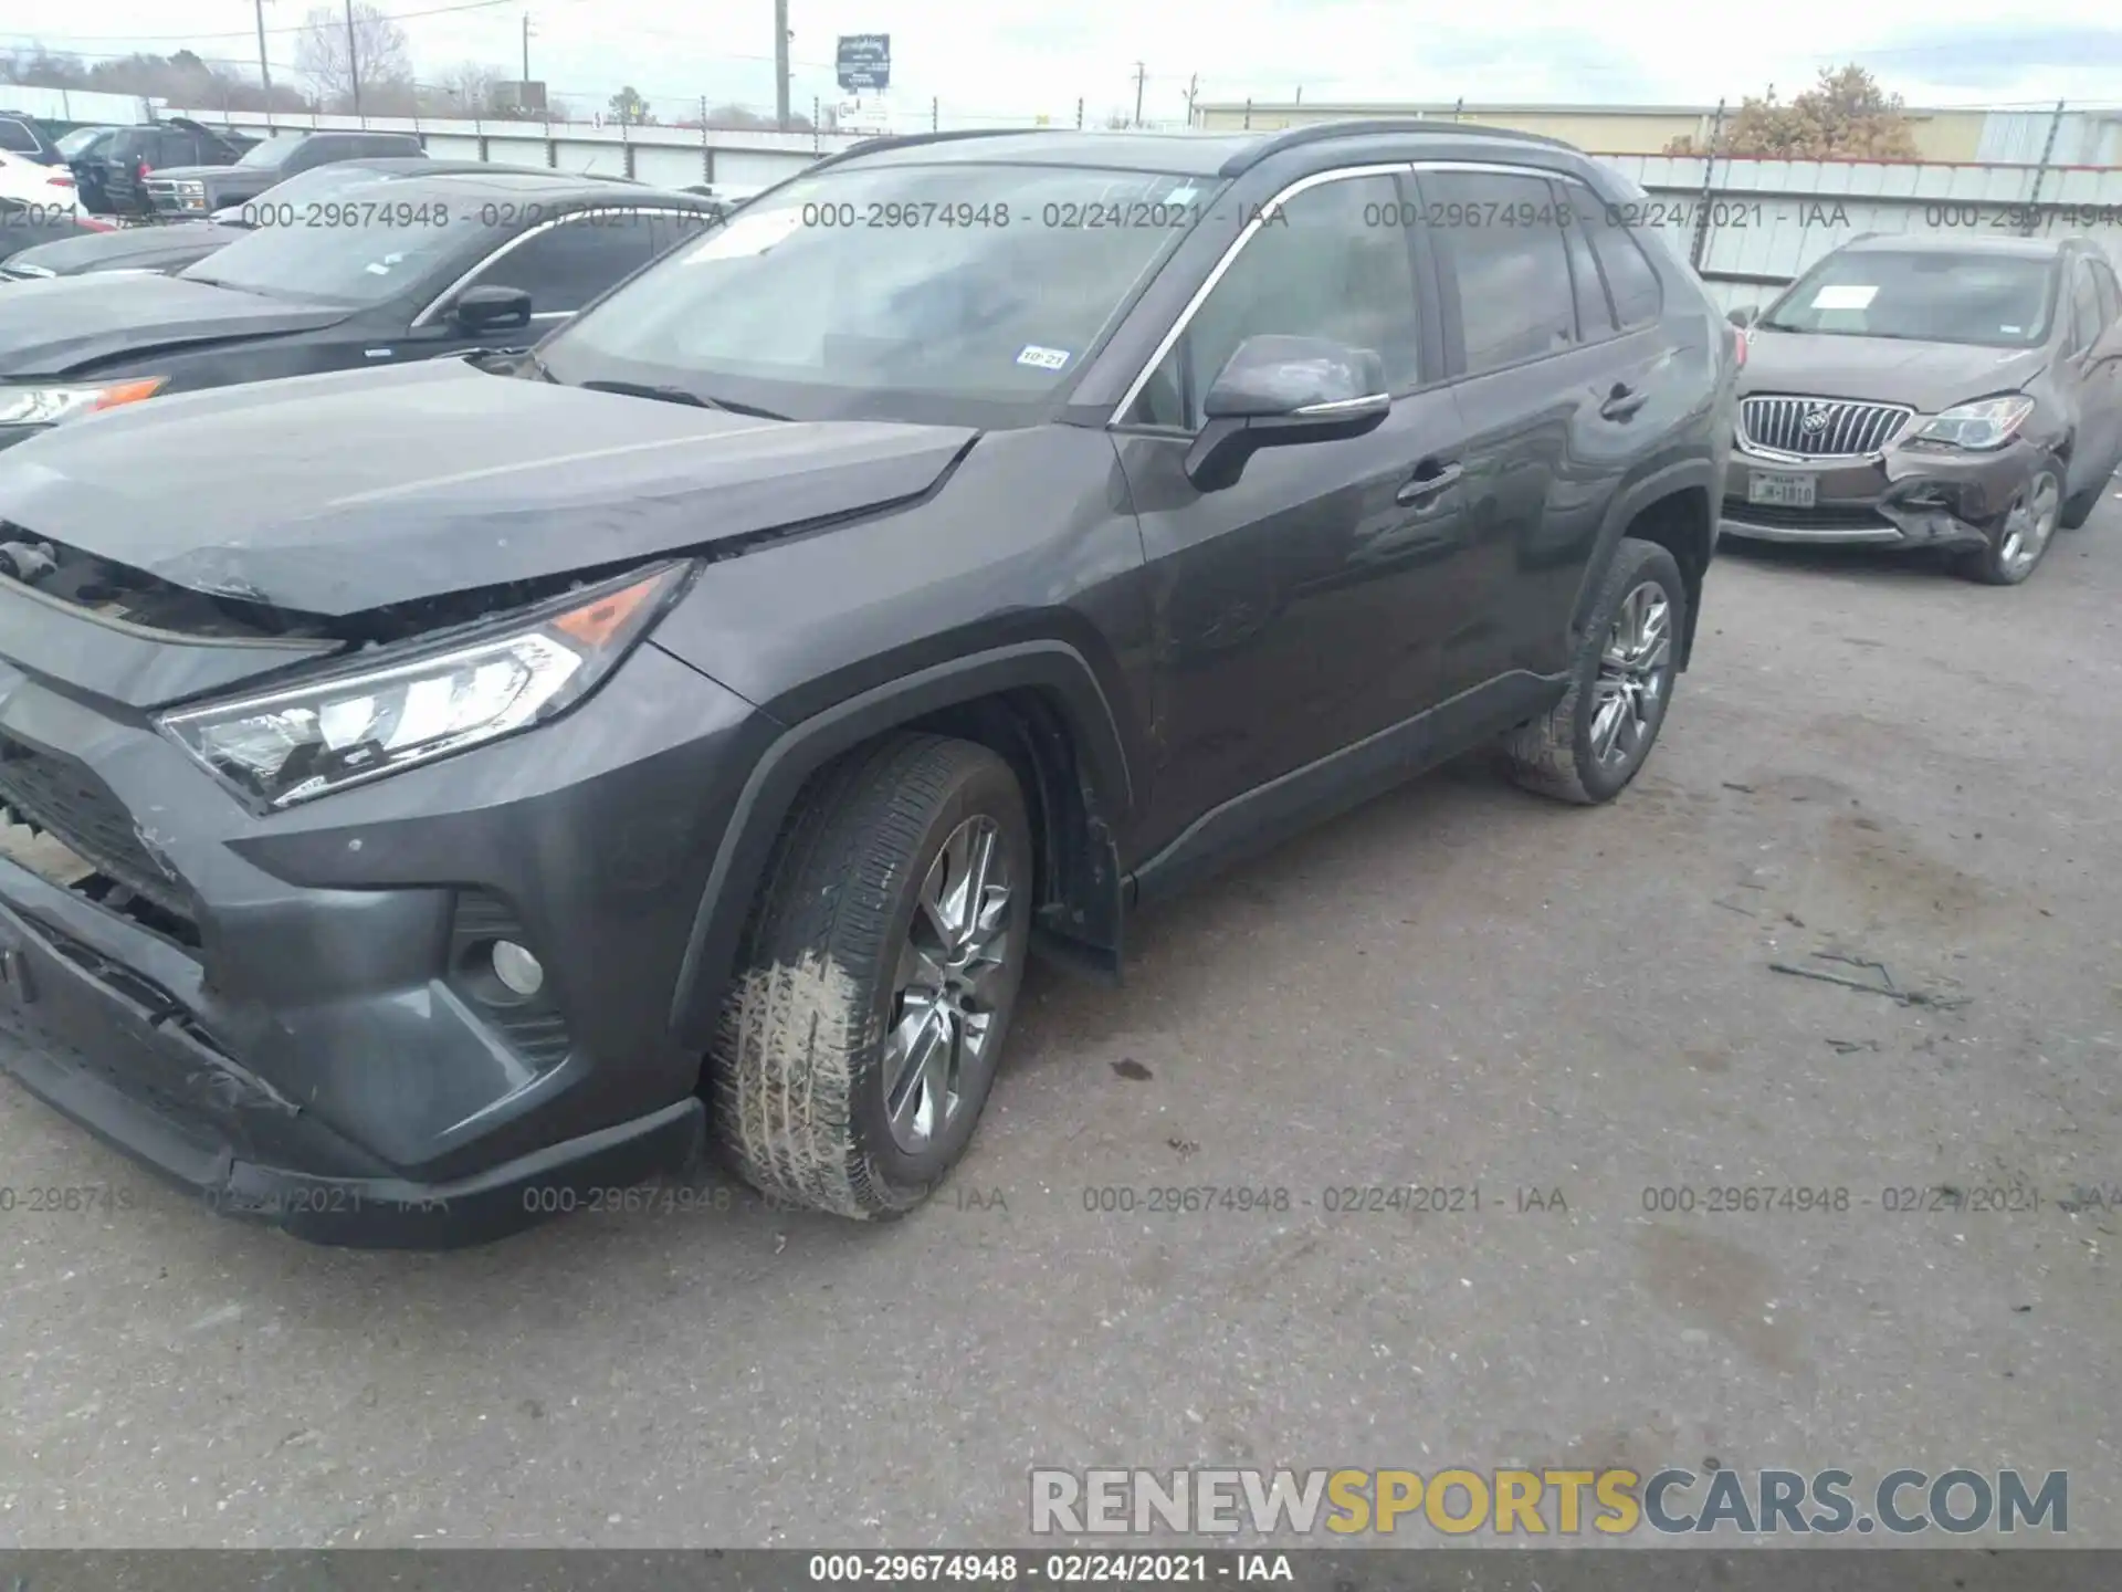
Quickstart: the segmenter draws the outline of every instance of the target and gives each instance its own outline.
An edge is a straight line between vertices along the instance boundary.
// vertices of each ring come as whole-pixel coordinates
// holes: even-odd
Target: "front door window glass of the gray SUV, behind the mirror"
[[[1415,270],[1392,176],[1318,183],[1280,206],[1201,301],[1142,388],[1135,425],[1199,431],[1216,376],[1246,338],[1326,338],[1369,348],[1386,386],[1420,384]]]

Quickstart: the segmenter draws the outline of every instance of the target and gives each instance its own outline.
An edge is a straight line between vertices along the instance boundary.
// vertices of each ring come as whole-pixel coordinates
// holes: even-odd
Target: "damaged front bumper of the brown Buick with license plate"
[[[2022,437],[1995,452],[1897,444],[1869,458],[1819,461],[1759,452],[1742,439],[1725,469],[1721,529],[1749,541],[1980,548],[2046,456]],[[1751,501],[1761,495],[1757,480],[1774,482],[1772,492],[1810,482],[1810,503]]]

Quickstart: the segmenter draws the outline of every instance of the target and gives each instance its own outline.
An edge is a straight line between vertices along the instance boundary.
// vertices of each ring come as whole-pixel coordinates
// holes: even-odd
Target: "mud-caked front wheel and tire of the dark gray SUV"
[[[895,734],[775,845],[711,1057],[715,1131],[766,1195],[919,1206],[966,1153],[1031,936],[1031,826],[987,747]]]

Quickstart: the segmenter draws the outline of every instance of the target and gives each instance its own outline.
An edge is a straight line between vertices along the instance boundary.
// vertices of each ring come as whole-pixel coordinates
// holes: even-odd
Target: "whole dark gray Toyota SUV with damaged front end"
[[[0,456],[0,1070],[310,1238],[709,1140],[912,1208],[1033,947],[1114,976],[1466,747],[1642,768],[1738,335],[1636,197],[1451,123],[891,140],[533,350],[59,420]]]

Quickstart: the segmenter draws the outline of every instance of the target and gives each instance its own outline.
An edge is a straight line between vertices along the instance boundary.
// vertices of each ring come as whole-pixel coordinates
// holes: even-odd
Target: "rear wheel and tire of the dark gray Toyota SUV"
[[[1687,635],[1687,584],[1655,541],[1623,537],[1577,645],[1562,700],[1502,743],[1526,790],[1583,807],[1636,777],[1666,722]]]

